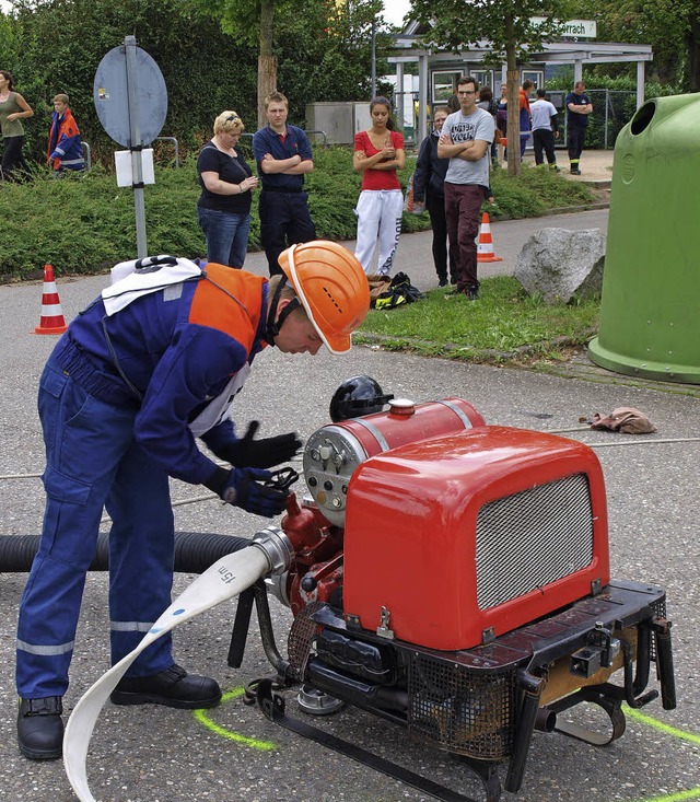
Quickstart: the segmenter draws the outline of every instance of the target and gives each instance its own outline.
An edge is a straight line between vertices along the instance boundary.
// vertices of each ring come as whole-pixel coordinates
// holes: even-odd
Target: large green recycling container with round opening
[[[700,384],[700,94],[651,100],[618,135],[588,356],[618,373]]]

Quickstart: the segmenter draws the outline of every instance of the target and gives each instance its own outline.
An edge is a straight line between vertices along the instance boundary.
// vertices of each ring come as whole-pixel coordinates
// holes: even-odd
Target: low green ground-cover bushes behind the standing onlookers
[[[315,170],[306,178],[308,204],[318,237],[351,240],[355,236],[353,213],[360,195],[361,176],[352,170],[347,148],[316,148]],[[406,186],[415,168],[408,159],[400,172]],[[205,237],[197,223],[199,197],[196,160],[185,160],[179,170],[156,166],[155,184],[144,189],[149,253],[173,253],[196,257],[206,253]],[[588,189],[539,167],[523,165],[511,178],[493,171],[497,206],[485,207],[493,217],[544,214],[552,207],[585,205]],[[44,264],[57,275],[93,274],[117,261],[133,258],[136,222],[133,193],[118,188],[115,176],[97,166],[88,174],[54,178],[39,170],[24,184],[0,187],[0,219],[3,247],[0,280],[40,277]],[[404,231],[430,228],[428,214],[405,214]],[[260,247],[257,202],[252,209],[250,251]]]

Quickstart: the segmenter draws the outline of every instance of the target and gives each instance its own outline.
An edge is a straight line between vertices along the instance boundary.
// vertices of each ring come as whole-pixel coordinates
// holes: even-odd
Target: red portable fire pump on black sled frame
[[[322,427],[303,464],[311,498],[300,505],[291,495],[281,524],[293,561],[267,580],[295,616],[289,658],[259,582],[240,598],[231,665],[255,600],[278,682],[304,683],[307,705],[332,697],[463,755],[487,802],[501,797],[499,764],[505,790],[520,789],[535,729],[619,737],[622,701],[658,696],[643,693],[651,663],[664,708],[675,707],[665,592],[610,580],[605,486],[588,446],[487,426],[459,398],[397,399]],[[270,681],[257,697],[270,718],[314,730],[290,723]],[[583,701],[607,712],[611,734],[557,721]],[[366,762],[438,798],[467,799]]]

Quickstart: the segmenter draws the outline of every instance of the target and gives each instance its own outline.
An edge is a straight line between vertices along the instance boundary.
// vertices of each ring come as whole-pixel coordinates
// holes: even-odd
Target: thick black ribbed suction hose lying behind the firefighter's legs
[[[180,573],[202,573],[221,557],[250,545],[246,537],[217,535],[207,532],[175,533],[175,570]],[[0,573],[28,571],[39,547],[39,535],[0,535]],[[97,538],[97,553],[91,571],[109,567],[109,535]]]

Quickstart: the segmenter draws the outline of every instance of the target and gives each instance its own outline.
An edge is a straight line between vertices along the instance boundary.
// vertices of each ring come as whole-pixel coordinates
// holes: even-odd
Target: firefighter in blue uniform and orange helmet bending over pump
[[[46,511],[18,627],[18,741],[33,759],[60,757],[61,698],[103,507],[109,533],[112,661],[138,644],[171,604],[174,521],[168,477],[271,518],[287,491],[266,484],[296,434],[236,438],[229,417],[254,358],[350,348],[370,291],[341,245],[316,241],[280,256],[269,281],[242,270],[153,257],[72,321],[39,385]],[[131,264],[120,266],[130,268]],[[232,467],[201,453],[200,437]],[[213,707],[217,682],[189,675],[170,636],[145,649],[112,695],[120,705]]]

